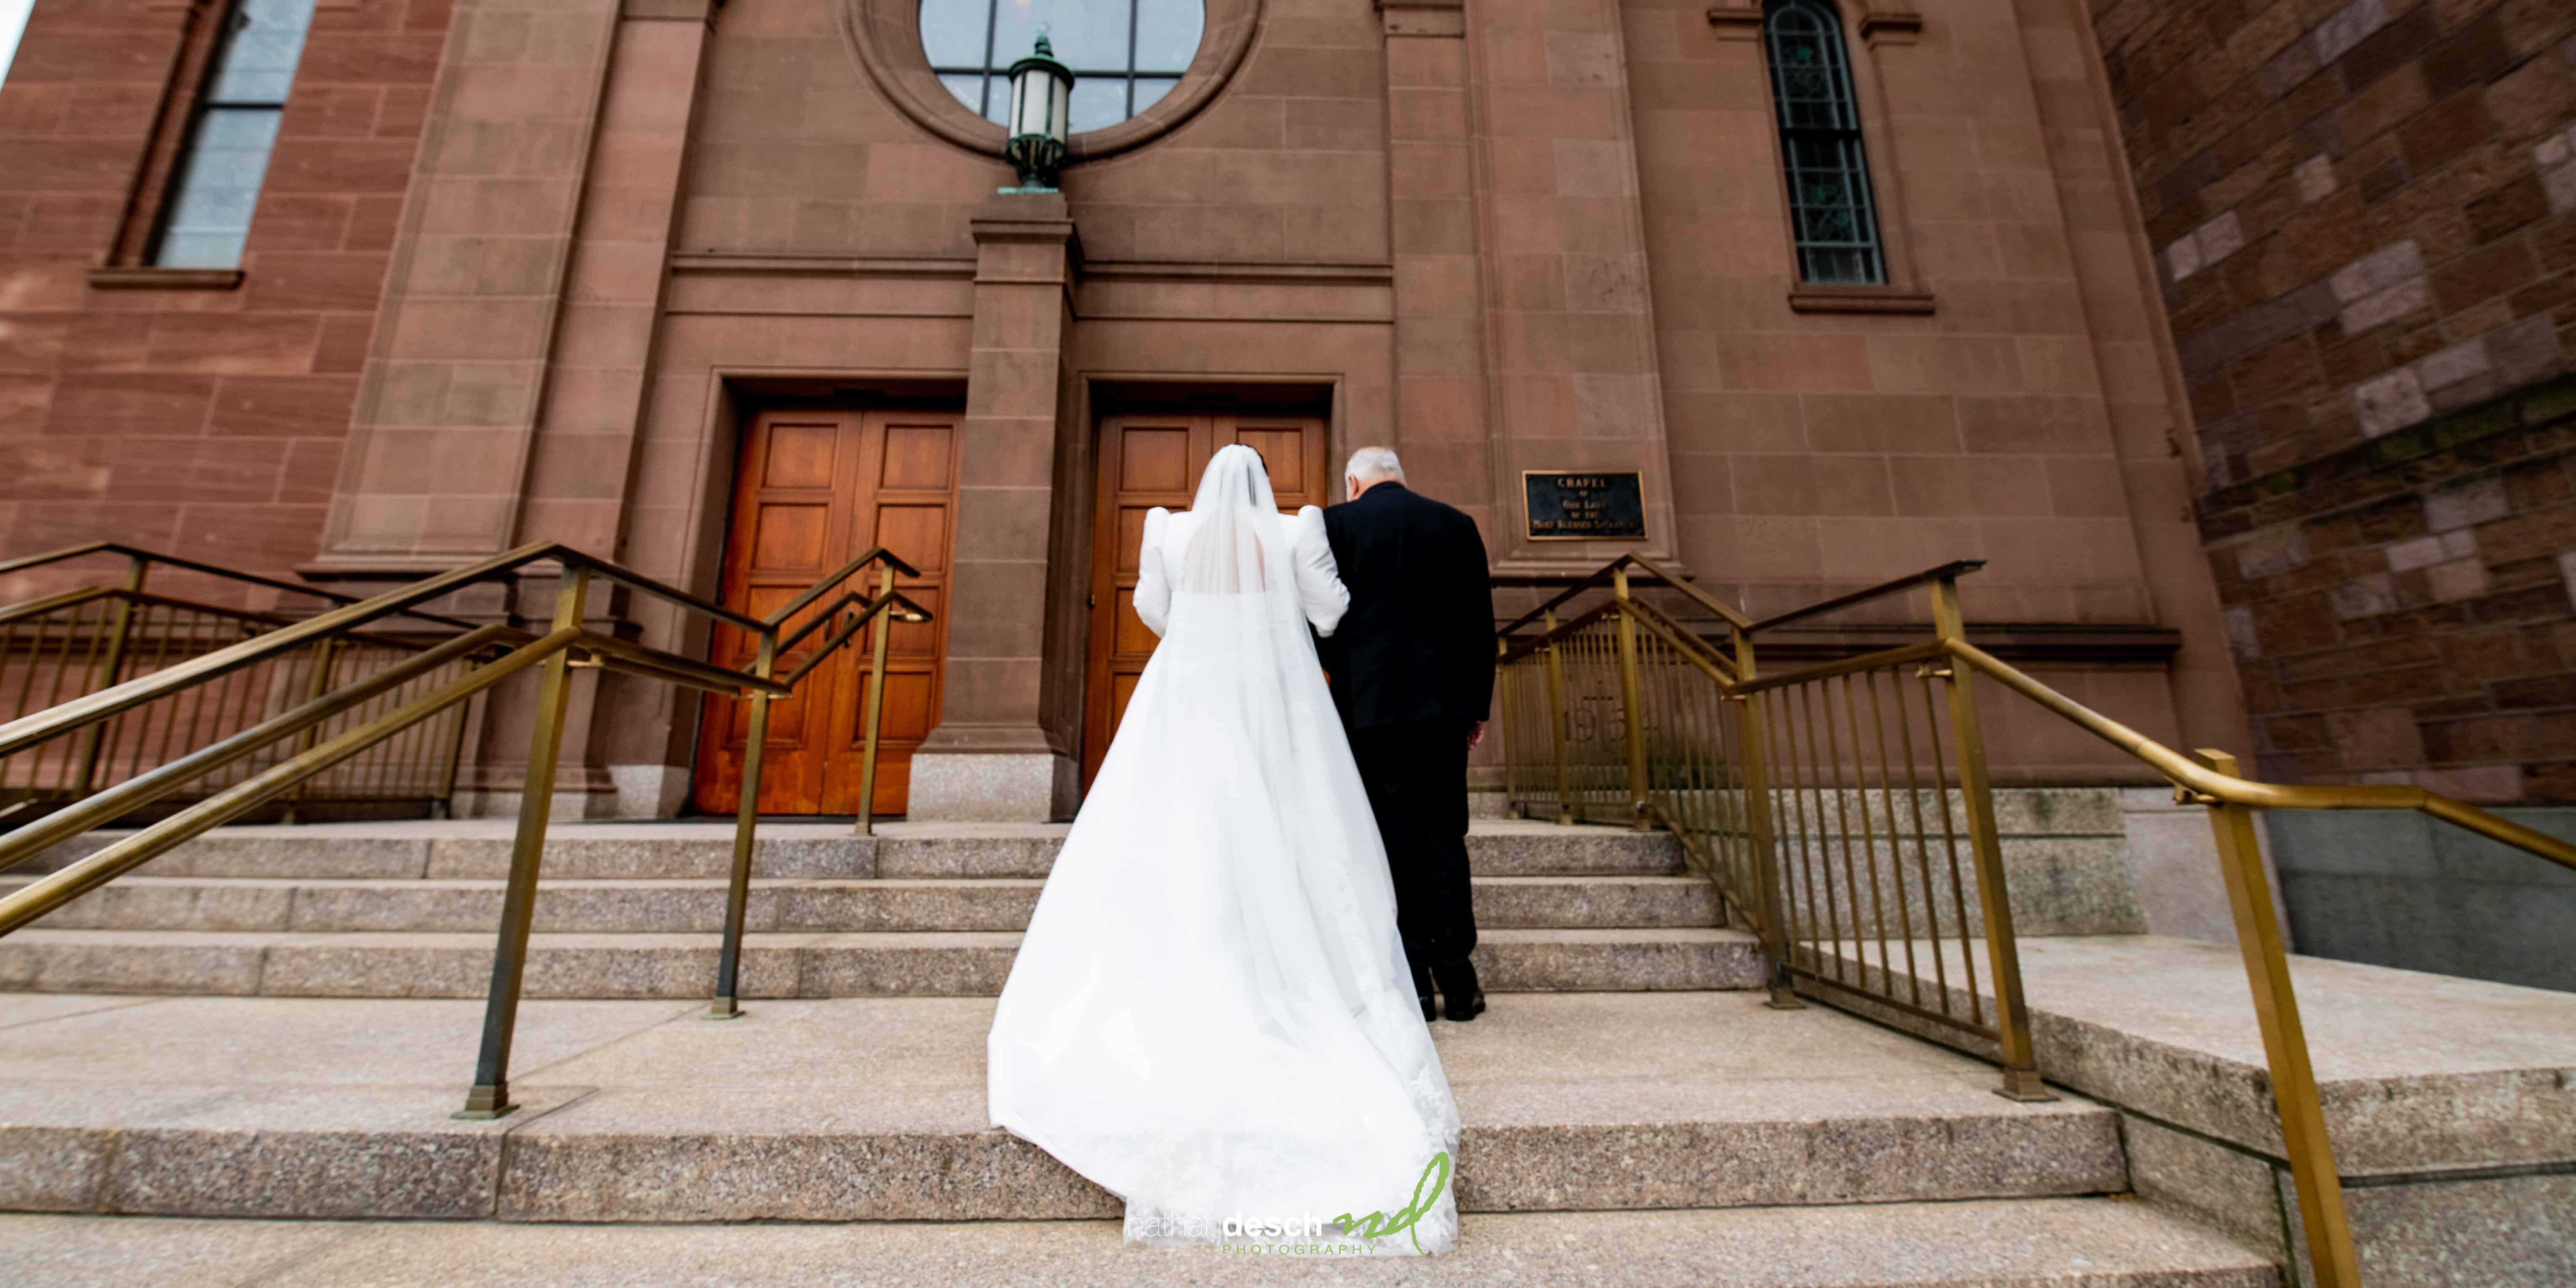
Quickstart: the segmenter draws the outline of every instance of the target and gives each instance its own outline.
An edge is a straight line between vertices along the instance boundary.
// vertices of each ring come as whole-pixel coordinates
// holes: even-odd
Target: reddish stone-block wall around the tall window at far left
[[[325,0],[240,289],[93,289],[188,21],[39,0],[0,85],[5,554],[116,538],[278,574],[317,549],[448,0]]]

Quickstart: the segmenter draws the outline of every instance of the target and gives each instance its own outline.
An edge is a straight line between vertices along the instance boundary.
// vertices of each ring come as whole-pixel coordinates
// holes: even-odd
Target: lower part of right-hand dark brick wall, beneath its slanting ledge
[[[2267,773],[2576,799],[2576,376],[2202,507]]]

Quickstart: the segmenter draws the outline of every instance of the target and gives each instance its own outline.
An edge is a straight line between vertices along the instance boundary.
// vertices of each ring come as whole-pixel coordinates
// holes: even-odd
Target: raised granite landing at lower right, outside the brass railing
[[[1929,953],[1917,945],[1922,976]],[[1875,971],[1875,943],[1862,961]],[[1893,963],[1901,979],[1901,948]],[[2362,1280],[2576,1283],[2576,994],[2306,956],[2290,979]],[[1953,945],[1963,1007],[1958,981]],[[2022,987],[2040,1072],[2120,1108],[2141,1195],[2293,1247],[2280,1110],[2233,945],[2030,938]]]

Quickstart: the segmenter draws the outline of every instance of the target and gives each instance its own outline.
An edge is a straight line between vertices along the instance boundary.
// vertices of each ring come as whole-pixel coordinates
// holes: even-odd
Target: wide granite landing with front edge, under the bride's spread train
[[[1010,1221],[1113,1195],[987,1128],[987,999],[531,1002],[526,1108],[459,1123],[482,1007],[0,997],[0,1208],[505,1221]],[[1468,1211],[2069,1198],[2117,1118],[1754,994],[1517,994],[1432,1025]],[[1927,1280],[1935,1283],[1935,1280]],[[1937,1280],[1947,1283],[1947,1280]]]

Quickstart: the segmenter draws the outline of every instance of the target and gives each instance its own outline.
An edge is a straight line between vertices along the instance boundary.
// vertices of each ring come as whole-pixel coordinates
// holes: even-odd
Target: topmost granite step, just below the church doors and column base
[[[224,827],[149,863],[152,876],[247,876],[322,881],[492,881],[510,871],[510,819],[386,824]],[[765,822],[752,873],[768,878],[1043,878],[1064,824],[848,824]],[[57,845],[18,871],[54,871],[126,832]],[[1476,876],[1672,876],[1680,845],[1662,832],[1476,819]],[[734,866],[726,822],[567,822],[546,837],[546,876],[574,881],[721,878]]]

